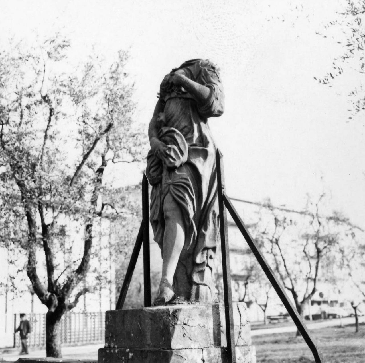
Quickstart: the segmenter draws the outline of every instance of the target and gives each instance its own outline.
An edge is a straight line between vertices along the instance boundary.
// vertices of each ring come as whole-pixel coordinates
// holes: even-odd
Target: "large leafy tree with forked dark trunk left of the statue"
[[[0,244],[26,254],[48,308],[46,353],[59,357],[59,321],[88,291],[97,222],[115,212],[104,172],[139,160],[142,138],[126,52],[109,67],[98,56],[75,67],[60,36],[11,47],[0,52]]]

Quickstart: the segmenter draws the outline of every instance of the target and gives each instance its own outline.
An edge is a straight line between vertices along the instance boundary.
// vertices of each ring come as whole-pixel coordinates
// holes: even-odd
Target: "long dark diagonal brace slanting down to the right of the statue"
[[[316,363],[323,363],[322,358],[322,352],[318,349],[317,344],[314,340],[314,338],[311,337],[309,331],[306,328],[306,325],[304,324],[303,320],[301,319],[300,315],[298,314],[296,308],[292,304],[292,302],[289,300],[289,297],[287,296],[286,292],[284,291],[283,286],[280,284],[280,281],[277,279],[276,275],[272,271],[270,265],[266,261],[264,255],[262,254],[261,250],[259,249],[256,242],[253,240],[251,234],[248,232],[245,224],[243,223],[242,219],[239,217],[237,210],[234,208],[232,202],[227,197],[227,195],[223,192],[223,201],[224,205],[228,209],[228,212],[230,212],[233,220],[235,221],[238,229],[241,231],[243,237],[245,237],[245,240],[247,244],[249,245],[251,251],[255,255],[258,263],[264,270],[266,276],[268,277],[270,283],[273,285],[273,288],[275,289],[276,293],[280,297],[281,301],[283,302],[285,308],[287,309],[289,315],[293,319],[296,327],[298,328],[300,334],[303,336],[305,342],[307,343],[308,347],[312,351],[312,354],[314,356],[314,360]]]

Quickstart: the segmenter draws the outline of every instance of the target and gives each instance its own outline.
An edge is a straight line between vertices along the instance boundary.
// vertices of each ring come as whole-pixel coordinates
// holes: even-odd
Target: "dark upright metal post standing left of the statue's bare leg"
[[[143,220],[143,284],[145,307],[151,306],[151,273],[150,273],[150,222],[148,202],[148,179],[142,179],[142,220]]]

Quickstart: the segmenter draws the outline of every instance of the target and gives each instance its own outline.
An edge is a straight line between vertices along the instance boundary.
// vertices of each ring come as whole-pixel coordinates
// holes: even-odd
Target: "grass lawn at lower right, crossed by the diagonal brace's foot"
[[[323,363],[365,363],[365,324],[355,333],[354,325],[312,330],[323,354]],[[257,363],[312,363],[312,352],[295,333],[252,337]]]

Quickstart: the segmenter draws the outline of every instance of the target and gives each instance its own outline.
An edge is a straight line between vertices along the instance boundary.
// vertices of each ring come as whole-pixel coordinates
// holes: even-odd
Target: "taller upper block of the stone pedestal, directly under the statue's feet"
[[[243,303],[233,304],[235,345],[250,346]],[[105,347],[193,349],[226,346],[222,304],[168,305],[106,312]]]

